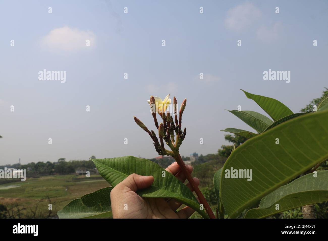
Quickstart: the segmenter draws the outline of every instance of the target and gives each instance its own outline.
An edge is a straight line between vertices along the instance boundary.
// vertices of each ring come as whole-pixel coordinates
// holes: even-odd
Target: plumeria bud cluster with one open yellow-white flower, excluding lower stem
[[[171,104],[171,99],[169,99],[170,94],[168,94],[164,101],[160,97],[150,96],[150,100],[148,103],[151,107],[151,113],[154,118],[155,127],[158,129],[158,138],[154,131],[149,131],[148,128],[137,118],[134,116],[134,121],[140,126],[144,131],[146,131],[149,136],[154,141],[155,150],[159,155],[168,155],[174,156],[174,151],[178,151],[181,146],[182,141],[184,140],[187,129],[185,128],[181,131],[182,124],[182,113],[186,107],[187,99],[184,99],[180,111],[179,111],[179,121],[177,117],[177,101],[176,98],[173,98],[173,114],[174,119],[171,116],[168,110],[168,106]],[[162,121],[160,124],[157,122],[156,113],[160,115]],[[174,135],[175,132],[175,135]],[[164,147],[165,143],[170,147],[172,151],[166,150]]]

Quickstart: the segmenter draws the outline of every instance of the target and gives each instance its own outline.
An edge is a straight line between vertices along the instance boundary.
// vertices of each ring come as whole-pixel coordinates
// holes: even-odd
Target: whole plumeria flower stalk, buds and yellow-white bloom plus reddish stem
[[[168,156],[172,156],[175,159],[181,171],[186,175],[187,180],[189,181],[190,185],[193,187],[195,193],[199,198],[200,203],[203,204],[209,217],[215,218],[213,211],[211,210],[206,199],[204,198],[204,195],[201,193],[198,186],[195,184],[193,177],[187,170],[186,165],[184,164],[179,153],[179,148],[187,134],[186,128],[183,131],[181,131],[182,114],[184,109],[186,108],[187,99],[184,99],[180,106],[179,121],[178,121],[177,114],[176,114],[177,101],[175,97],[173,98],[173,112],[174,112],[174,121],[175,121],[174,123],[173,117],[170,115],[169,112],[166,112],[167,106],[171,104],[171,99],[169,99],[169,96],[170,94],[168,94],[165,97],[164,101],[162,101],[162,99],[159,97],[150,96],[150,100],[148,102],[151,106],[151,113],[154,118],[155,126],[158,129],[159,142],[154,131],[150,132],[148,128],[135,116],[134,116],[134,121],[137,123],[138,126],[140,126],[144,131],[146,131],[150,135],[150,137],[154,141],[155,150],[159,155],[168,155]],[[154,107],[156,107],[156,110],[154,110]],[[158,107],[160,107],[160,109]],[[159,125],[156,118],[156,112],[158,112],[158,114],[161,116],[163,121],[163,123],[160,123]],[[176,135],[175,142],[174,142],[174,132]],[[164,141],[166,145],[170,147],[171,151],[165,149]]]

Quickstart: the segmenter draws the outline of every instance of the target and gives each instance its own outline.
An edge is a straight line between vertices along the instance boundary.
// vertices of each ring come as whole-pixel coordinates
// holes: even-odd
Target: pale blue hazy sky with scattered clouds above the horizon
[[[156,157],[133,116],[154,130],[147,100],[168,93],[178,105],[187,98],[181,155],[216,153],[219,130],[252,131],[224,109],[264,114],[239,89],[298,112],[328,87],[327,10],[327,1],[0,1],[0,165]],[[66,71],[66,82],[39,80],[44,69]],[[269,69],[291,71],[291,82],[263,80]]]

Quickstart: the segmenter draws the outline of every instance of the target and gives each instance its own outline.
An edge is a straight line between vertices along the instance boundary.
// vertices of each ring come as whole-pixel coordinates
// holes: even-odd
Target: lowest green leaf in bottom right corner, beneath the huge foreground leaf
[[[328,200],[328,171],[309,173],[282,186],[262,198],[257,209],[249,210],[245,218],[264,218],[286,210]],[[276,210],[279,204],[279,210]]]

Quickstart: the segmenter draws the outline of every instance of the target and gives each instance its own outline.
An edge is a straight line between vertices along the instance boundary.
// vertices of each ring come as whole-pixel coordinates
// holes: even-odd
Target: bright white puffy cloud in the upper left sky
[[[86,45],[87,40],[90,40],[90,46]],[[50,51],[77,51],[94,47],[95,35],[91,31],[57,28],[41,39],[41,45]]]

